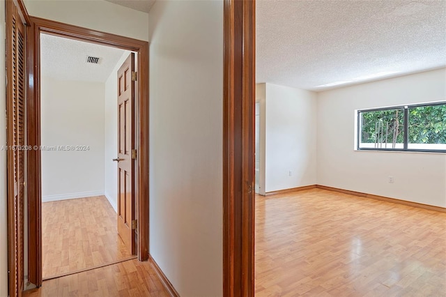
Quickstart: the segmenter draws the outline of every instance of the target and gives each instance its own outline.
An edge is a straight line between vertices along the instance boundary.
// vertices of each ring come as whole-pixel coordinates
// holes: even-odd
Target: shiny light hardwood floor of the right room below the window
[[[256,197],[256,297],[446,296],[446,214],[328,190]]]

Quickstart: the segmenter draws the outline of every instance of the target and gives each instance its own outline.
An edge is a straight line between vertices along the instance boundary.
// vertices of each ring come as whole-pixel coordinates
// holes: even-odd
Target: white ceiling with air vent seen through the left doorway
[[[63,80],[105,82],[124,52],[114,47],[41,34],[41,74]],[[86,63],[87,56],[99,57],[100,61]]]

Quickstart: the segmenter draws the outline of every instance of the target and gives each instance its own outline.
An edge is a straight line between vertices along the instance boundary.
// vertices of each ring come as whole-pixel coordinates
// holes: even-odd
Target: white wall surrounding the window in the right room
[[[353,149],[355,109],[445,98],[445,68],[318,93],[317,183],[446,207],[446,154]]]

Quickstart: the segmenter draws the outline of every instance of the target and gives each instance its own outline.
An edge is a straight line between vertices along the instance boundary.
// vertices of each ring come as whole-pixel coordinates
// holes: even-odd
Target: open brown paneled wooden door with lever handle
[[[118,234],[136,254],[134,220],[134,54],[118,70]]]

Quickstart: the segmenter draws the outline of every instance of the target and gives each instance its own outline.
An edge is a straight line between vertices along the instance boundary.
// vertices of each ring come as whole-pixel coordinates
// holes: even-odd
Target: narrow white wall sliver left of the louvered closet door
[[[5,48],[5,1],[0,1],[0,48]],[[5,55],[0,54],[0,69]],[[0,71],[0,147],[6,146],[6,73]],[[0,296],[8,296],[8,229],[6,229],[6,151],[0,150]]]

